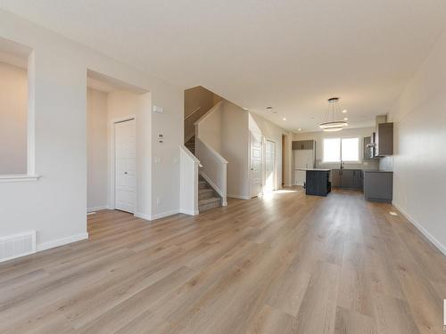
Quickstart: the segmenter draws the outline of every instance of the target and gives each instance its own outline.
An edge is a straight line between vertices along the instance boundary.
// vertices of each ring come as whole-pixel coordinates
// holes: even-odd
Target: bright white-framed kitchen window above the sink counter
[[[323,162],[359,161],[359,138],[324,139]]]

